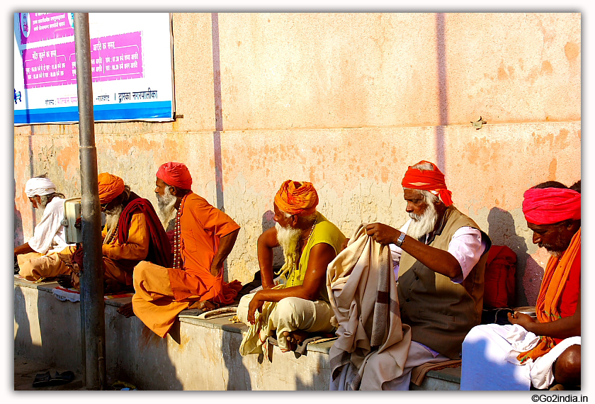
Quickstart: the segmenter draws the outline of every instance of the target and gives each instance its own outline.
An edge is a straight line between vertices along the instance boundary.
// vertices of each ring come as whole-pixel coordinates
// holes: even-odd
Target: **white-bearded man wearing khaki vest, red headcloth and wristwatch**
[[[480,324],[487,251],[492,242],[458,211],[444,175],[431,162],[407,169],[402,181],[411,218],[397,230],[382,223],[368,235],[392,252],[401,321],[412,330],[404,372],[385,383],[408,390],[411,371],[424,363],[460,359],[469,330]]]

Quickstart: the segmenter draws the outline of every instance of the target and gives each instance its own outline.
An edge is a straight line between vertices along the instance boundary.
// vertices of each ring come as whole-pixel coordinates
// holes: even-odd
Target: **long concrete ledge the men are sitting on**
[[[79,303],[60,301],[57,283],[14,281],[14,353],[48,366],[81,373]],[[329,349],[310,344],[297,357],[272,347],[266,357],[241,357],[246,325],[231,316],[213,320],[180,318],[159,338],[136,318],[116,310],[130,298],[106,301],[108,377],[140,390],[329,390]],[[457,376],[458,372],[458,376]],[[458,390],[460,368],[430,371],[412,390]]]

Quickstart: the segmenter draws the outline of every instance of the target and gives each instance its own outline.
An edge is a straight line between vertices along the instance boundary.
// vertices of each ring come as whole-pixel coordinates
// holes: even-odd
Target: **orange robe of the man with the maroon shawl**
[[[104,227],[101,237],[105,238],[108,230]],[[132,270],[135,265],[147,258],[151,237],[147,227],[147,219],[141,211],[132,214],[128,240],[120,244],[118,234],[109,244],[101,246],[105,279],[114,279],[125,286],[132,285]]]

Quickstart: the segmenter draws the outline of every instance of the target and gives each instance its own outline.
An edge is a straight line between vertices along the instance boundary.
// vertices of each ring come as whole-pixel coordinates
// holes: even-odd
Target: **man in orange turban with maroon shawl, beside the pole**
[[[147,199],[130,191],[119,176],[104,172],[97,180],[99,204],[106,213],[106,225],[101,232],[103,279],[106,293],[114,293],[132,286],[132,270],[142,260],[162,265],[171,262],[171,246]],[[74,262],[80,267],[82,255],[82,248],[74,254]],[[77,286],[78,277],[73,278]],[[70,286],[68,279],[62,278],[60,283]]]

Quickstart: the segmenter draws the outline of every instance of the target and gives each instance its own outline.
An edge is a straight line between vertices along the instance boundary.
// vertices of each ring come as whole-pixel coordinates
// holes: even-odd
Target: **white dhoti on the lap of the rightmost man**
[[[570,337],[535,361],[521,365],[516,356],[536,342],[533,332],[514,325],[477,325],[463,341],[461,390],[529,390],[548,388],[554,381],[552,365],[581,337]]]

